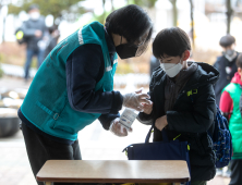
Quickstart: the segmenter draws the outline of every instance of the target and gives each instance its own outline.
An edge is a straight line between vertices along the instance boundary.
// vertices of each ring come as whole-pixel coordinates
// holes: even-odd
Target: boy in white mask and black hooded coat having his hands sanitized
[[[190,145],[191,184],[206,185],[215,176],[215,152],[208,133],[214,132],[216,102],[214,83],[219,73],[209,64],[187,61],[189,36],[179,27],[162,29],[153,42],[159,59],[152,77],[149,96],[153,104],[144,104],[137,119],[154,124],[154,141],[178,138]],[[164,151],[166,152],[166,151]]]

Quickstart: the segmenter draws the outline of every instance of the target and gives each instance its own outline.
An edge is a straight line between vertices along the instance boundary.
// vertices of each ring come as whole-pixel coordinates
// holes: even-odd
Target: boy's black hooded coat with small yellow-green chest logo
[[[215,153],[208,132],[214,132],[216,103],[214,83],[218,79],[218,71],[206,64],[197,63],[197,70],[191,75],[184,88],[178,95],[171,111],[165,112],[166,73],[158,67],[153,73],[149,95],[154,102],[150,114],[140,113],[137,119],[144,124],[153,124],[167,115],[166,131],[172,140],[181,134],[179,139],[190,145],[191,178],[192,181],[209,181],[215,176]],[[194,95],[187,96],[187,91]],[[193,99],[193,100],[192,100]],[[161,132],[154,130],[154,141],[162,140]]]

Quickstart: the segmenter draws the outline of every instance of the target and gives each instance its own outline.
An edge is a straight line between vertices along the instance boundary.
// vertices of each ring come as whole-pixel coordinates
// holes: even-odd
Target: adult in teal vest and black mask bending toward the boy
[[[119,122],[122,106],[142,111],[150,101],[142,90],[113,90],[118,55],[141,55],[152,32],[147,13],[126,5],[108,15],[105,26],[85,25],[48,54],[19,109],[34,175],[50,159],[81,160],[77,133],[96,119],[113,134],[128,135]]]

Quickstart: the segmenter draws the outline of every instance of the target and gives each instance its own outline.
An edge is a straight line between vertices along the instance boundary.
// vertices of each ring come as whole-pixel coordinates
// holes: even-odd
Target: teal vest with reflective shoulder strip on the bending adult
[[[96,84],[95,91],[113,89],[118,55],[114,54],[112,66],[104,25],[93,22],[62,40],[49,53],[35,75],[21,106],[24,116],[49,135],[76,140],[77,132],[100,116],[100,113],[73,110],[68,99],[65,63],[77,47],[86,44],[99,45],[104,53],[106,70],[102,78]]]

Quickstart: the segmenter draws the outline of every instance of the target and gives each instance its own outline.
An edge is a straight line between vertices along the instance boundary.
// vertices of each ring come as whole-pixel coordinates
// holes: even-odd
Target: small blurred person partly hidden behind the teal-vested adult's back
[[[51,27],[48,27],[48,32],[49,32],[49,37],[46,45],[45,58],[57,46],[58,38],[60,37],[60,33],[55,25]]]

